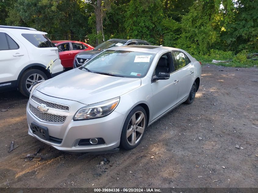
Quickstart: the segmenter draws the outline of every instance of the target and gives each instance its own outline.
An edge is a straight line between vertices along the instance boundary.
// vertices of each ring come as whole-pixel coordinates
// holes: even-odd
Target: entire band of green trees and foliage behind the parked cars
[[[202,62],[233,60],[221,65],[258,63],[247,57],[258,52],[257,0],[0,0],[0,25],[34,27],[53,40],[96,46],[103,39],[96,33],[98,2],[105,40],[144,39],[182,48]]]

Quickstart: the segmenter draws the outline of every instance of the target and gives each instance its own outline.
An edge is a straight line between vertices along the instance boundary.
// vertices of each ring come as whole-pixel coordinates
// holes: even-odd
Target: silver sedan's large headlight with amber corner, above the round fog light
[[[109,115],[118,105],[120,97],[112,98],[103,102],[87,105],[78,110],[74,120],[96,119]]]

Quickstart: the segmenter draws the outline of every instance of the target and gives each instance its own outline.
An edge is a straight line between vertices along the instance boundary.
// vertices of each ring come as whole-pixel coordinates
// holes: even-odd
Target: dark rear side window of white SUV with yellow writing
[[[38,48],[56,47],[45,34],[21,34],[26,40]]]

